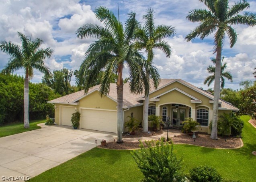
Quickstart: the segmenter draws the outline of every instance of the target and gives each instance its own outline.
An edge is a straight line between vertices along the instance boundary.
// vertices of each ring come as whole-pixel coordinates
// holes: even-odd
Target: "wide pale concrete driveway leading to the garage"
[[[37,176],[100,145],[102,139],[110,142],[117,138],[115,133],[44,123],[40,126],[41,129],[0,138],[1,180],[18,176],[26,180],[27,176]]]

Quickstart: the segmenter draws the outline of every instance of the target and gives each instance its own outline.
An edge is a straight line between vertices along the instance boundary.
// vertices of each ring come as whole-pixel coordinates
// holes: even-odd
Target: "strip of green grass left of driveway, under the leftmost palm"
[[[23,133],[25,131],[31,131],[34,129],[39,129],[41,127],[37,126],[37,124],[44,123],[45,121],[45,119],[29,121],[29,128],[24,128],[23,122],[14,122],[7,125],[2,125],[0,126],[0,137],[14,135],[17,133]]]

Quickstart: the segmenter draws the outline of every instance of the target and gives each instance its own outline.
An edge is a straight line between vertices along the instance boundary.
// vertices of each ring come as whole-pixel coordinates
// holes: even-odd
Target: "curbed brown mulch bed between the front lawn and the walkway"
[[[225,141],[226,140],[226,141]],[[188,134],[178,135],[172,138],[174,144],[192,144],[197,146],[209,147],[209,148],[239,148],[242,145],[240,138],[234,137],[221,137],[218,140],[212,140],[210,135],[199,133],[194,140],[192,136]],[[145,146],[145,142],[143,142]],[[139,148],[139,142],[124,142],[123,144],[117,144],[116,142],[108,142],[106,147],[98,146],[99,148],[115,149],[115,150],[130,150]]]

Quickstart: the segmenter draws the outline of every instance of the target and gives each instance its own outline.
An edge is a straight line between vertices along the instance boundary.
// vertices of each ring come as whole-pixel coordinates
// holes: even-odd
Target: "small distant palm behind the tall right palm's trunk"
[[[230,80],[231,82],[233,82],[233,78],[232,78],[232,75],[229,71],[225,71],[224,70],[227,68],[227,63],[223,63],[223,59],[224,57],[222,57],[222,61],[221,61],[221,89],[224,88],[224,85],[225,85],[225,78],[227,78],[228,80]],[[211,62],[213,62],[213,64],[215,65],[216,64],[216,59],[212,59]],[[213,83],[214,81],[214,78],[215,78],[215,66],[208,66],[207,67],[207,71],[209,73],[213,73],[213,75],[209,75],[206,79],[205,79],[205,82],[204,84],[208,85],[208,87],[211,85],[211,83]]]

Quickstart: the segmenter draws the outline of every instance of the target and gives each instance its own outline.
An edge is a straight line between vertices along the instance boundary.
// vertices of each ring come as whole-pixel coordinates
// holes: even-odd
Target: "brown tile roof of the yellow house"
[[[183,83],[184,85],[187,85],[193,89],[195,89],[196,91],[198,91],[199,93],[202,93],[203,95],[208,96],[209,98],[211,98],[213,100],[213,95],[211,95],[210,93],[207,93],[197,87],[195,87],[194,85],[181,80],[181,79],[161,79],[160,83],[158,85],[158,88],[164,87],[165,85],[168,85],[174,81],[179,81],[180,83]],[[96,85],[92,88],[89,89],[88,93],[92,92],[94,89],[99,89],[100,85]],[[154,86],[151,84],[151,88],[150,88],[150,92],[155,91],[156,89],[154,89]],[[53,99],[51,101],[49,101],[49,103],[67,103],[67,104],[75,104],[77,99],[80,99],[81,97],[84,96],[84,90],[69,94],[69,95],[65,95],[63,97],[59,97],[57,99]],[[110,89],[109,89],[109,97],[112,97],[114,100],[117,101],[117,86],[115,83],[111,83],[110,84]],[[132,107],[138,104],[141,104],[140,101],[138,101],[138,98],[143,98],[143,94],[133,94],[130,92],[129,90],[129,83],[125,83],[123,86],[123,108],[127,108],[127,107]],[[227,103],[223,100],[219,100],[221,102],[221,107],[222,108],[226,108],[226,109],[231,109],[231,110],[238,110],[236,107],[234,107],[233,105],[231,105],[230,103]]]

